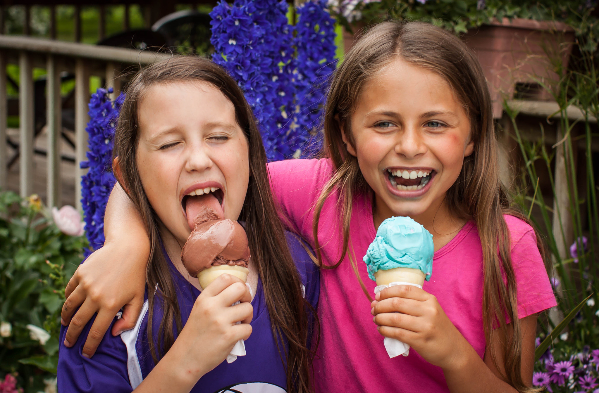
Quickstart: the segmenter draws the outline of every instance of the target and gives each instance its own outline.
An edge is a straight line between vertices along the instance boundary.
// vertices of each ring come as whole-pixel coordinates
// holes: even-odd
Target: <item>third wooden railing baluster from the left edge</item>
[[[60,187],[60,132],[62,130],[62,101],[60,99],[60,71],[53,54],[48,55],[46,84],[46,124],[48,137],[47,154],[47,200],[51,208],[61,205]]]

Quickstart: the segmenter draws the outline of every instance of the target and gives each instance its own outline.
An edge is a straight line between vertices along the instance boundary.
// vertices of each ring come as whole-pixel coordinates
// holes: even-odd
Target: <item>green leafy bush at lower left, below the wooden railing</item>
[[[56,373],[64,288],[86,246],[84,236],[60,232],[39,199],[0,193],[0,375],[16,371],[27,392]],[[27,325],[50,338],[42,345]]]

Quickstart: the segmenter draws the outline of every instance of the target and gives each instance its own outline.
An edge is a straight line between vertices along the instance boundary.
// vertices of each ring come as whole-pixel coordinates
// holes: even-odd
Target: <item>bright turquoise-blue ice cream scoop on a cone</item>
[[[374,273],[379,270],[408,267],[420,269],[429,281],[434,254],[435,246],[429,231],[410,217],[391,217],[380,224],[363,259],[371,280],[376,281]]]

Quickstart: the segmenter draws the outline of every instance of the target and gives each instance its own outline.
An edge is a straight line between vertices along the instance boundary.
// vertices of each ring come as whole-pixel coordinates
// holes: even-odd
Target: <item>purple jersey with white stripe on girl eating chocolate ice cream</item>
[[[304,296],[316,308],[320,288],[318,268],[312,263],[304,247],[295,236],[288,233],[287,240],[302,285],[305,288]],[[168,257],[167,261],[177,290],[181,320],[185,324],[200,291],[183,278]],[[155,302],[153,331],[158,331],[162,319],[159,303],[159,301]],[[251,323],[252,335],[245,341],[247,355],[238,357],[231,364],[223,361],[217,365],[214,370],[199,379],[191,390],[192,393],[285,392],[287,386],[286,366],[282,362],[273,337],[261,281],[258,281],[252,306],[254,309]],[[66,334],[66,328],[62,327],[58,358],[59,392],[125,393],[133,391],[155,366],[147,342],[147,310],[146,300],[135,328],[123,332],[120,336],[113,337],[110,334],[111,326],[104,335],[98,351],[91,359],[84,358],[81,355],[81,349],[83,349],[95,316],[87,323],[77,342],[71,348],[66,348],[62,344]],[[176,332],[176,330],[174,331]]]

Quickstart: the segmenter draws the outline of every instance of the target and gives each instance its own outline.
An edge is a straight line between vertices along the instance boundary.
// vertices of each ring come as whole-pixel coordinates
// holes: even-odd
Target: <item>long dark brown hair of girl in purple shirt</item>
[[[152,321],[155,301],[161,302],[164,310],[157,334],[158,342],[154,340],[152,323],[148,324],[152,357],[158,362],[173,345],[173,321],[177,334],[180,333],[182,324],[173,278],[160,246],[161,220],[147,200],[138,173],[138,111],[144,93],[150,86],[178,81],[209,83],[219,89],[235,108],[235,118],[249,145],[249,165],[252,173],[239,220],[246,223],[252,263],[261,278],[274,339],[281,360],[287,367],[287,391],[310,392],[313,355],[307,348],[311,329],[307,313],[311,307],[302,295],[299,274],[274,205],[262,138],[256,127],[252,109],[233,78],[210,60],[195,56],[173,56],[141,69],[135,75],[125,91],[125,101],[120,108],[114,138],[114,156],[119,157],[119,181],[124,183],[123,188],[140,211],[150,238],[150,258],[146,273],[149,321]],[[288,343],[287,352],[283,346],[284,337]]]

